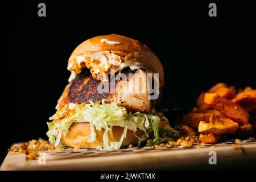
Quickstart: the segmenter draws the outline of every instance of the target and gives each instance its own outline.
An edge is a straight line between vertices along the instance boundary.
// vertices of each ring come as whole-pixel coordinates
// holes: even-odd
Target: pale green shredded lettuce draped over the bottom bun
[[[67,135],[69,127],[72,123],[78,122],[89,122],[91,128],[90,138],[87,142],[93,142],[96,139],[96,130],[104,129],[103,146],[97,148],[103,148],[104,150],[118,150],[122,146],[123,140],[126,138],[127,130],[135,132],[137,130],[144,131],[144,136],[139,138],[139,143],[148,138],[148,131],[154,132],[155,139],[158,139],[159,122],[160,118],[157,115],[143,114],[143,113],[132,113],[127,111],[125,107],[118,106],[116,102],[111,104],[102,104],[90,102],[90,104],[67,104],[60,107],[52,117],[53,120],[47,123],[49,131],[47,136],[49,142],[55,143],[55,146],[63,146],[61,143],[61,135]],[[123,134],[119,141],[113,140],[112,127],[120,126],[123,127]],[[108,134],[112,136],[109,141]],[[139,144],[138,143],[138,144]]]

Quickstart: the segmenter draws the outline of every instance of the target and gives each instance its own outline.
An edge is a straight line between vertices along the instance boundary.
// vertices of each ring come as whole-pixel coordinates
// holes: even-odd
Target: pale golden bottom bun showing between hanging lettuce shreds
[[[69,128],[69,132],[66,136],[62,135],[62,142],[68,147],[74,148],[96,148],[97,146],[103,146],[103,135],[105,130],[102,129],[98,131],[94,127],[94,131],[97,134],[96,140],[89,143],[86,142],[90,138],[90,124],[88,122],[84,123],[73,123]],[[112,140],[109,134],[109,141],[118,142],[123,134],[123,127],[113,126],[114,139]],[[143,137],[144,132],[139,130],[136,132],[138,137]],[[138,138],[135,137],[133,131],[127,130],[126,138],[123,140],[122,146],[127,146],[129,144],[136,145],[138,143]]]

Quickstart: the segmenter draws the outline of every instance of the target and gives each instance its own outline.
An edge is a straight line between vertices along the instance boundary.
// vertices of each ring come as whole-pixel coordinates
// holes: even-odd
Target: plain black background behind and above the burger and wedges
[[[255,88],[250,3],[212,1],[217,17],[209,17],[210,2],[42,2],[46,17],[38,16],[39,2],[5,3],[9,67],[2,77],[7,112],[2,113],[0,162],[11,143],[46,138],[48,117],[68,83],[68,58],[92,36],[129,36],[159,56],[166,82],[158,108],[190,108],[200,92],[217,82]]]

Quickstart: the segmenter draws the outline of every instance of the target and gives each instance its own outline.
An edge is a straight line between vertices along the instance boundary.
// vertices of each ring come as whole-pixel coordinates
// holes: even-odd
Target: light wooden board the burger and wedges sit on
[[[210,151],[216,152],[217,165],[210,165]],[[212,153],[210,153],[212,154]],[[42,155],[42,154],[41,154]],[[42,160],[46,156],[45,164]],[[189,148],[124,148],[118,151],[46,151],[41,160],[26,160],[24,154],[9,152],[1,170],[137,170],[208,169],[226,164],[256,162],[256,141],[219,143]]]

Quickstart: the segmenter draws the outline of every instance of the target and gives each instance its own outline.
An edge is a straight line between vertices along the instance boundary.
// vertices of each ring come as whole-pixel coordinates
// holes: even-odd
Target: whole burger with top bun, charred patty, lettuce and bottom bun
[[[47,122],[55,147],[118,150],[161,139],[159,128],[168,119],[155,113],[151,96],[162,93],[164,71],[146,45],[121,35],[96,36],[75,48],[68,70],[69,83]]]

